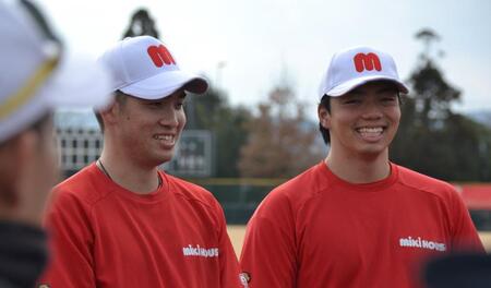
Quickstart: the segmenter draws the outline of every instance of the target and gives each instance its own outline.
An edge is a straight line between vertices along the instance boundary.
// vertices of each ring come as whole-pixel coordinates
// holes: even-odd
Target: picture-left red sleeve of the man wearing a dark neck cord
[[[56,191],[45,219],[51,235],[52,259],[39,284],[53,288],[95,288],[89,208],[73,194],[57,192],[60,191]]]

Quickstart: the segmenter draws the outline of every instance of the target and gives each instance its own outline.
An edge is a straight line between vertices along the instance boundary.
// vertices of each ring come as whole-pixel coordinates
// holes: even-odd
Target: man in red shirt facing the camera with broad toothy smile
[[[451,184],[390,161],[399,93],[408,89],[390,55],[356,47],[333,57],[318,109],[328,155],[251,218],[241,255],[250,287],[418,287],[427,259],[483,252]]]

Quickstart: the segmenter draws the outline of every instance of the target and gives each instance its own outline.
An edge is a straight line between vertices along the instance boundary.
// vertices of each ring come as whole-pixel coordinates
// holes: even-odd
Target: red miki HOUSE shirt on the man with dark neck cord
[[[221,207],[192,183],[132,193],[95,164],[59,184],[47,216],[51,288],[243,287]]]

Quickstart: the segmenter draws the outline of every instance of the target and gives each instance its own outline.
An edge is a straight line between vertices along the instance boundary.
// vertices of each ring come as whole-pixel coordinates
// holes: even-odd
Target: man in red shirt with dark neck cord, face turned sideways
[[[99,111],[100,158],[55,188],[47,226],[55,259],[41,285],[243,287],[223,209],[213,195],[158,169],[185,124],[187,92],[207,82],[179,69],[151,36],[125,38],[100,58],[115,103]]]

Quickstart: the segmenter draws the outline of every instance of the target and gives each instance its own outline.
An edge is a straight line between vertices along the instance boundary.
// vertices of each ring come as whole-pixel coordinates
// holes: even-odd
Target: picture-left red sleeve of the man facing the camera
[[[250,288],[296,286],[295,221],[288,201],[270,195],[248,224],[240,264]]]

